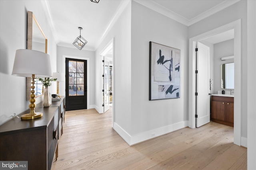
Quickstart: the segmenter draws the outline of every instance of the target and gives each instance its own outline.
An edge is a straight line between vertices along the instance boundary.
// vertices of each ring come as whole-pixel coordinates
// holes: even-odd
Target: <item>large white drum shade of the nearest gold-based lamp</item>
[[[51,77],[50,55],[29,49],[16,50],[12,75],[21,77]]]

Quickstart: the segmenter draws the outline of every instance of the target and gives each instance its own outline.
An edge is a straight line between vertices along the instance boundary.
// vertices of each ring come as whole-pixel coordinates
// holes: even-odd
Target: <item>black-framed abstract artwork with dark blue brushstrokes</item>
[[[180,98],[180,49],[149,42],[149,100]]]

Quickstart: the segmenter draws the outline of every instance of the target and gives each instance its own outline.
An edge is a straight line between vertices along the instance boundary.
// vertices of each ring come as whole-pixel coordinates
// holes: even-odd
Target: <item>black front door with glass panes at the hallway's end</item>
[[[87,61],[66,58],[66,111],[87,109]]]

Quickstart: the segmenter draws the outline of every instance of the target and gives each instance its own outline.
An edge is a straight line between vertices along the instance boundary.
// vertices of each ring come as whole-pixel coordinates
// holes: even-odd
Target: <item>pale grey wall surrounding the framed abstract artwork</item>
[[[188,27],[132,1],[131,144],[187,126]],[[149,41],[180,49],[180,98],[149,101]]]

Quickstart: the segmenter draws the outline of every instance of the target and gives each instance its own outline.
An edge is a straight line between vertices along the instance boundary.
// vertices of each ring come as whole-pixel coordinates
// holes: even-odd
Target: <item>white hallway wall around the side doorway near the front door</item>
[[[126,6],[116,23],[95,51],[96,95],[95,104],[99,109],[102,100],[100,85],[100,53],[114,38],[113,56],[113,113],[114,129],[129,141],[131,131],[131,2]],[[128,137],[128,138],[127,138]]]

